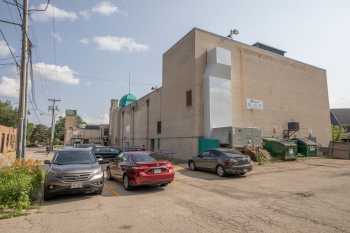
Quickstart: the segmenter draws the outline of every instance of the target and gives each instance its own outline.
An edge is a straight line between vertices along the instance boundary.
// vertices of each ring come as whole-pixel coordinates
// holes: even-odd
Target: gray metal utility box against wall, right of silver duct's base
[[[232,145],[244,147],[246,145],[261,145],[262,131],[259,128],[232,128]]]

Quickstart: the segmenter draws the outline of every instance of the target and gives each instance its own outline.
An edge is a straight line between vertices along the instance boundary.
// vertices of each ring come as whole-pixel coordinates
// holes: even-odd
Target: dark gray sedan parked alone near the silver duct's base
[[[188,161],[191,170],[207,170],[216,172],[218,176],[226,174],[244,175],[253,166],[249,156],[235,149],[213,149],[205,151]]]

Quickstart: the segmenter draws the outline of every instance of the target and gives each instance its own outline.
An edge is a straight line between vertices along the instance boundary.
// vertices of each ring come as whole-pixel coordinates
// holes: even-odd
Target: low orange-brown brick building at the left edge
[[[16,150],[16,128],[0,125],[0,153]]]

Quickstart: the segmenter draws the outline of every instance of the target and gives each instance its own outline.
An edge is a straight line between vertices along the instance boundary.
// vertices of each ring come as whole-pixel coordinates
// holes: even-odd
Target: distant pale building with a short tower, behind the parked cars
[[[108,144],[109,126],[79,125],[76,110],[66,110],[64,126],[64,145],[74,144]]]

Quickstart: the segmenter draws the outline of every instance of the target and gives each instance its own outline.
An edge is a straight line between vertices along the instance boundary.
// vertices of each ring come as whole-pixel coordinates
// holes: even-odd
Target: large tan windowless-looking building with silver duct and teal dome
[[[327,146],[326,70],[284,54],[194,28],[163,54],[162,87],[111,101],[110,142],[187,159],[215,140],[236,146],[244,132],[282,138],[292,122],[295,136]]]

